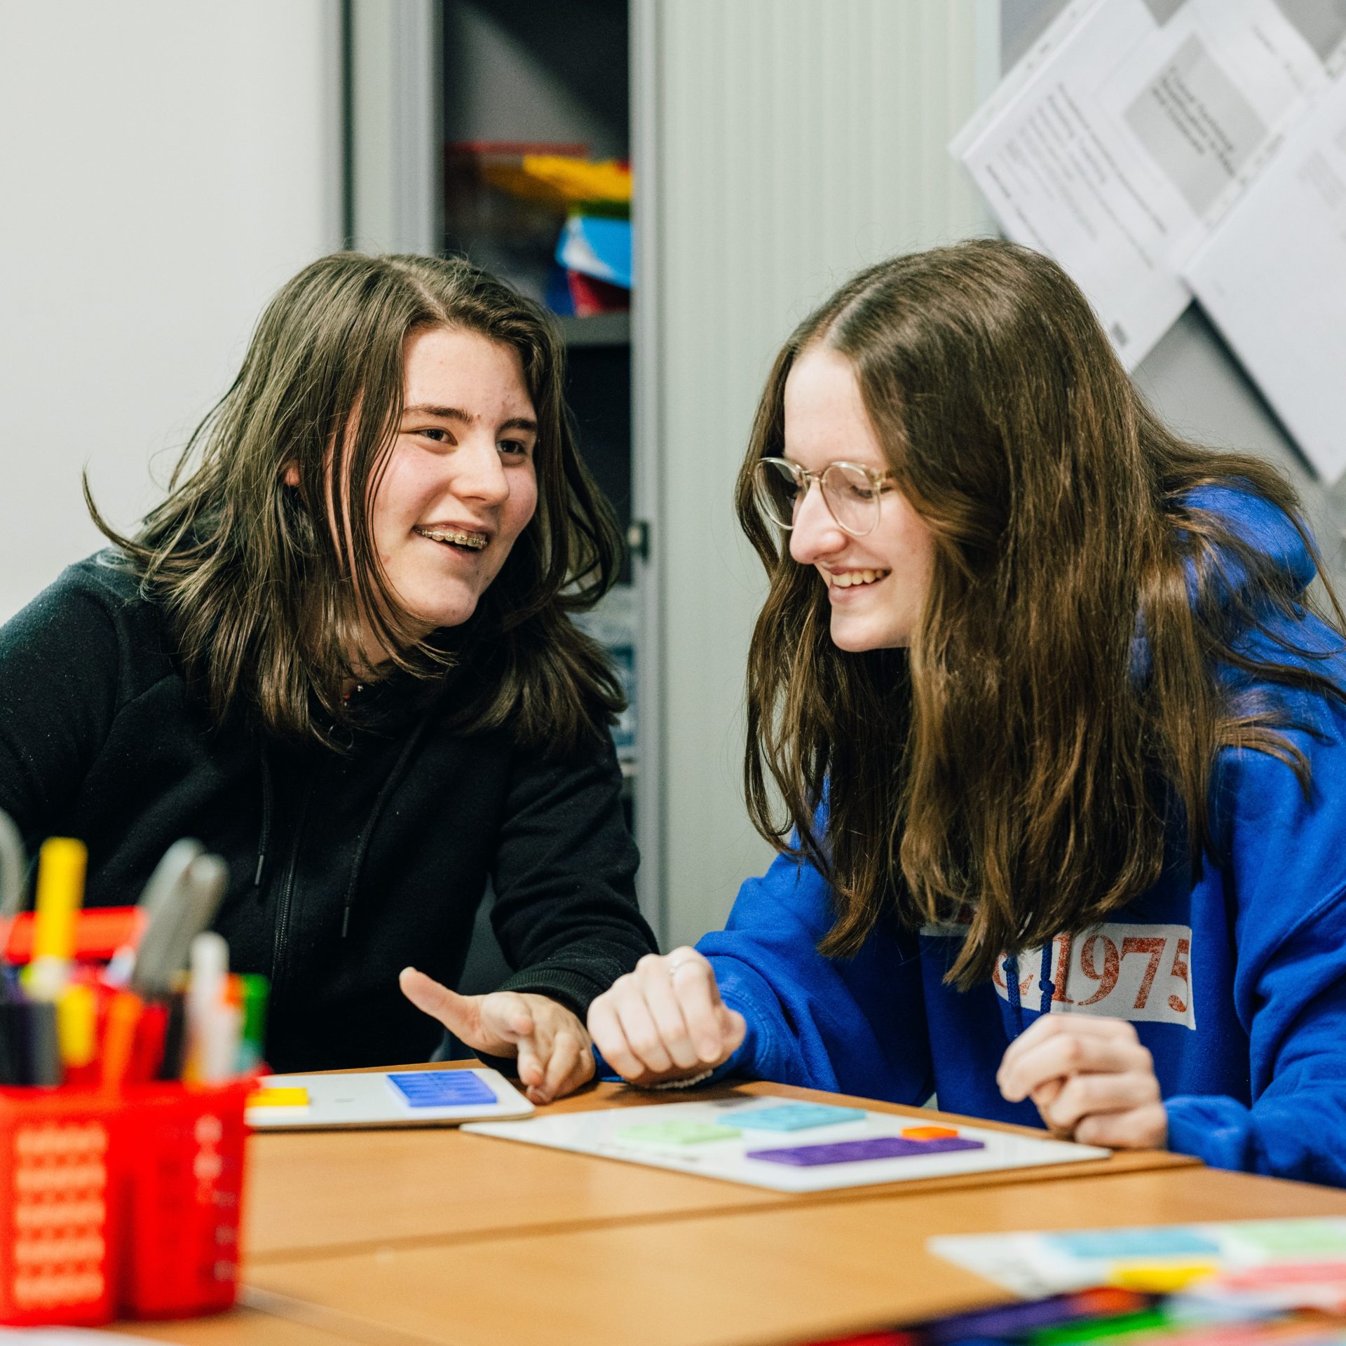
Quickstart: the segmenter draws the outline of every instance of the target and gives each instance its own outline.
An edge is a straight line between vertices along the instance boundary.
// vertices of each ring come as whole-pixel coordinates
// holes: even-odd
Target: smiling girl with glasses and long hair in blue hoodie
[[[594,1001],[606,1059],[1346,1182],[1346,639],[1285,482],[975,241],[805,319],[738,509],[779,855]]]

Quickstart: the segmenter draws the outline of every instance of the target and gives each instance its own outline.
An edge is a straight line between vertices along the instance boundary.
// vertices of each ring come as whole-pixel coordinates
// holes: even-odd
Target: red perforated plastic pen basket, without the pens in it
[[[227,1308],[252,1088],[0,1089],[0,1323]]]

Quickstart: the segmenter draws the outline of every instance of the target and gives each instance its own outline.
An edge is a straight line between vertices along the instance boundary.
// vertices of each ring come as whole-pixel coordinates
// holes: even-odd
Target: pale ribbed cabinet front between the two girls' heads
[[[647,0],[637,8],[637,483],[654,521],[670,942],[723,923],[770,856],[743,802],[748,635],[765,592],[732,513],[790,328],[860,267],[987,232],[945,147],[993,83],[983,0]],[[651,308],[653,306],[653,308]],[[651,724],[651,719],[657,719]]]

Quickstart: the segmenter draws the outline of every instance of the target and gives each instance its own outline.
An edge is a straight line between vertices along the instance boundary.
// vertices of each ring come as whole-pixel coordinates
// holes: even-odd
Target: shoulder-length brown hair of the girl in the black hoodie
[[[245,707],[273,734],[336,742],[332,727],[353,716],[343,685],[365,673],[365,626],[402,672],[429,680],[454,662],[389,592],[370,524],[406,336],[436,326],[517,350],[538,425],[537,511],[455,642],[490,665],[462,727],[507,720],[524,740],[564,747],[621,709],[611,666],[567,616],[611,587],[621,537],[579,455],[555,326],[462,260],[335,253],[267,306],[233,386],[133,537],[101,518],[85,485],[217,720]],[[345,536],[328,520],[346,520]]]

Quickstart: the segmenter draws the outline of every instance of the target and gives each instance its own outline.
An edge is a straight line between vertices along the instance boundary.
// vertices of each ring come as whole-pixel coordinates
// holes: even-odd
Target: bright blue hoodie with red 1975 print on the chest
[[[1299,534],[1261,497],[1209,487],[1189,502],[1273,557],[1296,592],[1314,577]],[[1228,596],[1245,579],[1224,560]],[[1312,658],[1346,686],[1346,650],[1323,623],[1265,604],[1259,616],[1320,657],[1287,656],[1254,629],[1241,651]],[[1222,750],[1211,798],[1219,859],[1199,879],[1176,861],[1104,925],[1001,958],[993,983],[968,992],[944,984],[958,926],[884,921],[853,958],[820,956],[828,884],[781,856],[743,884],[725,929],[697,945],[748,1026],[724,1073],[905,1104],[935,1093],[949,1112],[1040,1125],[1031,1102],[1005,1102],[996,1088],[1005,1047],[1044,1007],[1108,1015],[1131,1020],[1154,1054],[1171,1149],[1346,1184],[1346,713],[1242,674],[1226,681],[1236,701],[1272,703],[1294,719],[1284,734],[1312,769],[1307,800],[1279,759]]]

